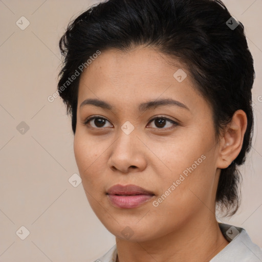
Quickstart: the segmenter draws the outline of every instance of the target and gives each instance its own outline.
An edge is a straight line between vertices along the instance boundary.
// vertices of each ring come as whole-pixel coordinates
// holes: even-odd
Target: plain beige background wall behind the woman
[[[0,0],[2,262],[93,261],[115,244],[89,206],[82,184],[73,187],[68,181],[78,173],[71,122],[60,98],[47,100],[56,91],[58,40],[69,20],[96,2]],[[253,148],[242,168],[243,202],[236,215],[221,221],[244,227],[262,247],[262,0],[224,3],[246,28],[256,80]],[[30,21],[25,30],[16,25],[21,16]],[[16,129],[21,121],[29,126],[24,135]],[[18,237],[26,232],[21,226],[30,231],[25,240]]]

